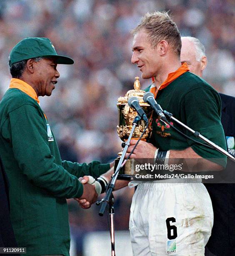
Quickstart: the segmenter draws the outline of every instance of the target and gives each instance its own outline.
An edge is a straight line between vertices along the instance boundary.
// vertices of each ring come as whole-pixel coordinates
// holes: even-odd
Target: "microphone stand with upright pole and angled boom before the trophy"
[[[113,197],[113,194],[112,194],[112,191],[115,187],[115,183],[116,183],[116,180],[117,180],[117,175],[120,171],[120,169],[125,165],[126,163],[126,160],[124,161],[124,158],[125,158],[125,154],[127,152],[127,149],[128,147],[130,146],[130,140],[133,136],[133,133],[135,131],[135,127],[137,126],[138,122],[141,120],[140,116],[136,116],[135,119],[133,120],[133,126],[132,126],[132,129],[130,131],[130,135],[128,137],[128,140],[125,142],[125,147],[122,151],[122,156],[118,162],[118,165],[117,165],[117,169],[115,171],[115,174],[113,174],[112,176],[112,179],[111,179],[111,182],[107,185],[107,188],[106,188],[106,195],[104,198],[102,198],[102,200],[100,202],[97,202],[96,205],[101,205],[100,207],[100,212],[99,212],[99,215],[100,216],[103,216],[104,215],[104,212],[105,212],[105,209],[107,207],[107,204],[109,204],[109,215],[110,215],[110,225],[111,225],[111,255],[112,256],[115,256],[115,241],[114,241],[114,197]],[[148,123],[146,124],[148,125]]]

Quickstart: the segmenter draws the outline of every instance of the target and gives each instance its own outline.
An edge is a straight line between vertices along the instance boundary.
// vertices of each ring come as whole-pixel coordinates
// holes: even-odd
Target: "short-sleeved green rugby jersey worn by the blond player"
[[[146,89],[146,91],[149,90],[150,87]],[[172,113],[173,117],[226,150],[225,135],[220,121],[220,96],[205,80],[195,74],[185,72],[163,90],[159,90],[156,100],[163,110]],[[226,166],[226,156],[213,148],[199,145],[183,137],[169,125],[158,120],[155,114],[153,114],[152,125],[151,142],[161,150],[183,150],[191,147],[199,156],[208,159],[220,159],[218,163]],[[186,129],[179,125],[175,125],[175,127],[189,137],[203,143]],[[217,161],[215,160],[215,162]]]

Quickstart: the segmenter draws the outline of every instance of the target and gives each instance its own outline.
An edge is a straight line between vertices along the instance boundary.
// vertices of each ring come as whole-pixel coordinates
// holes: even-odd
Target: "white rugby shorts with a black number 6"
[[[130,209],[134,256],[203,256],[213,208],[202,183],[142,183]]]

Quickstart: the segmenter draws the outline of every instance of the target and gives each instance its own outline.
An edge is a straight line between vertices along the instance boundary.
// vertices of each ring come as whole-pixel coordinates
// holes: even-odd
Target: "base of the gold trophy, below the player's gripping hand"
[[[115,159],[114,164],[114,172],[117,169],[118,162],[120,160],[120,157]],[[117,179],[121,180],[133,180],[133,177],[135,176],[135,165],[138,162],[135,159],[128,159],[125,163],[125,165],[120,169],[119,174],[117,175]]]

